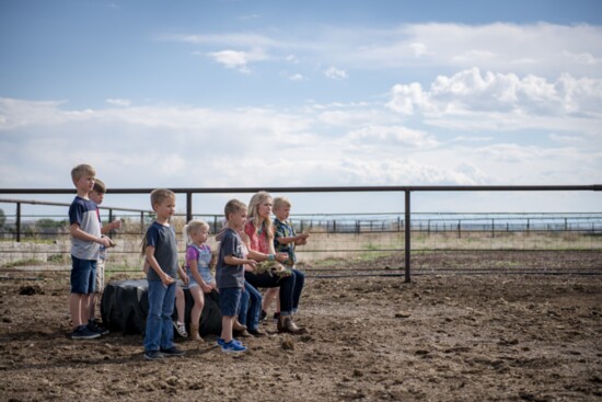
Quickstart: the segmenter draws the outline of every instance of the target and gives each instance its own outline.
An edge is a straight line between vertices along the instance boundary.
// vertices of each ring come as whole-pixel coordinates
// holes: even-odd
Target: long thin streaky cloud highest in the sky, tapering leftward
[[[482,70],[535,74],[548,80],[565,71],[570,71],[572,77],[602,78],[602,26],[587,24],[312,26],[294,32],[167,34],[160,39],[188,43],[204,47],[204,54],[228,56],[229,59],[236,56],[238,61],[228,61],[228,66],[233,65],[231,68],[242,66],[241,55],[220,55],[221,51],[216,51],[215,47],[243,55],[259,51],[266,58],[282,62],[300,64],[303,60],[310,69],[316,64],[344,65],[351,70],[433,67],[458,70],[476,66]],[[244,68],[248,67],[245,65]],[[348,76],[347,71],[336,67],[323,72],[331,79]]]

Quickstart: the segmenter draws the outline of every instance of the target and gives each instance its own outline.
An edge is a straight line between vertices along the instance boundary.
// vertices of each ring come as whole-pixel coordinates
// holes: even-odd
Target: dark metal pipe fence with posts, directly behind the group
[[[109,188],[111,194],[149,194],[154,188]],[[185,194],[186,221],[193,218],[194,194],[233,194],[257,193],[378,193],[396,192],[404,194],[404,253],[405,282],[410,282],[410,252],[412,252],[412,207],[410,195],[415,192],[599,192],[602,184],[592,185],[461,185],[461,186],[339,186],[339,187],[230,187],[230,188],[171,188],[176,194]],[[72,188],[0,188],[0,194],[73,194]],[[20,205],[18,205],[20,208]],[[19,215],[19,213],[18,213]],[[143,222],[143,215],[142,215]],[[462,228],[462,225],[459,225]]]

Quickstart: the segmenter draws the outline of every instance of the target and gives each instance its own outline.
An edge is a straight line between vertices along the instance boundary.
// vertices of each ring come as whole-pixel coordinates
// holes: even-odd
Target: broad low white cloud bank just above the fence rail
[[[571,133],[554,131],[560,134],[551,134],[548,146],[500,142],[496,136],[481,141],[482,135],[468,134],[444,142],[370,103],[313,104],[285,113],[183,105],[72,110],[61,102],[0,99],[0,116],[5,120],[0,182],[7,187],[38,186],[39,177],[46,186],[70,187],[68,172],[82,158],[115,187],[602,180],[599,135],[571,141]],[[82,154],[72,147],[76,140],[94,151]],[[36,163],[23,162],[32,160]],[[267,161],[269,175],[248,174],[265,170]]]

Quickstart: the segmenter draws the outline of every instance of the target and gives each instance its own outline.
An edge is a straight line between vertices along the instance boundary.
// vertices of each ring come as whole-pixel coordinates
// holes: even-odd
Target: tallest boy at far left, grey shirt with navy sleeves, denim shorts
[[[71,234],[71,295],[69,311],[74,331],[72,340],[92,340],[101,336],[89,324],[90,299],[94,297],[96,261],[101,245],[111,246],[111,239],[101,236],[96,204],[88,198],[94,187],[96,171],[89,164],[71,170],[71,179],[78,195],[69,207],[69,233]]]

